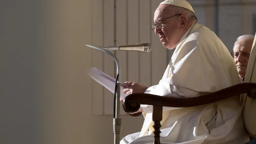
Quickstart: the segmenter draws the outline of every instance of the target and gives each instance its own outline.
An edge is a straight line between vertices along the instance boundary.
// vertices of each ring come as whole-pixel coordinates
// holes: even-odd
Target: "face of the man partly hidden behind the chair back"
[[[252,50],[253,39],[240,39],[236,42],[234,50],[234,59],[236,68],[241,78],[244,78],[248,65],[250,52]]]

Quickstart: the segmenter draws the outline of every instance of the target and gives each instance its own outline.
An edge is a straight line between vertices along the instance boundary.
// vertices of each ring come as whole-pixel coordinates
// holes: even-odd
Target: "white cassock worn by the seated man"
[[[186,38],[190,29],[177,44],[162,80],[145,93],[188,98],[240,83],[234,59],[215,33],[196,23]],[[141,108],[145,111],[141,132],[124,137],[120,144],[153,143],[153,106],[141,105]],[[239,96],[204,106],[163,107],[161,125],[161,144],[245,144],[249,141]]]

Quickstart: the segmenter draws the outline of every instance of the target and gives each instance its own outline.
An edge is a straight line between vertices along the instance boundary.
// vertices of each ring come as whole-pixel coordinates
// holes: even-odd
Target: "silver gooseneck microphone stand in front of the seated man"
[[[92,45],[87,45],[85,46],[93,48],[95,50],[99,50],[101,52],[107,53],[110,55],[115,61],[116,61],[116,66],[117,66],[117,71],[116,71],[116,88],[115,88],[115,95],[114,95],[114,119],[113,119],[113,128],[114,128],[114,144],[119,144],[120,143],[120,133],[121,133],[121,123],[122,119],[119,118],[120,115],[120,77],[121,77],[121,67],[119,60],[116,58],[116,56],[105,50],[108,49],[108,47],[98,47],[98,46],[92,46]],[[117,94],[116,94],[117,93]]]

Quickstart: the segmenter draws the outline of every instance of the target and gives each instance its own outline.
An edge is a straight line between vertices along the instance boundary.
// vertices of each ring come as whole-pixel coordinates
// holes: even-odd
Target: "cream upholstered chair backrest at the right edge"
[[[252,50],[246,69],[244,82],[245,83],[256,83],[256,34],[252,44]],[[253,100],[242,94],[240,97],[241,103],[243,104],[243,116],[245,128],[251,137],[256,136],[256,100]]]

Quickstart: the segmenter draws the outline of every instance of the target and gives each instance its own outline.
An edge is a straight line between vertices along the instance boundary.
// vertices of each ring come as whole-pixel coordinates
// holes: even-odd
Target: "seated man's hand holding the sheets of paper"
[[[126,93],[127,95],[132,94],[132,93],[144,93],[147,89],[148,86],[136,83],[136,82],[125,82],[123,84],[124,87],[124,94]]]

